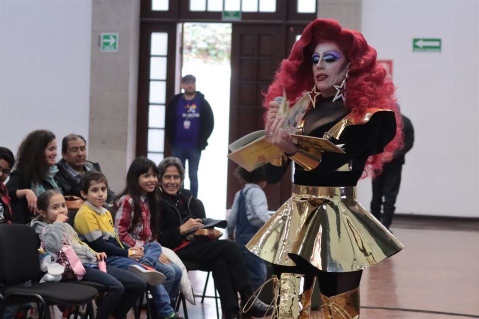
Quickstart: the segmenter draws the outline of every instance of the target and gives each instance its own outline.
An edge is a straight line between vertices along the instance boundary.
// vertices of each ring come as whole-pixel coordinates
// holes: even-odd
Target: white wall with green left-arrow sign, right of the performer
[[[362,32],[393,59],[398,102],[415,128],[397,212],[479,216],[478,1],[363,0]],[[413,52],[413,38],[441,38],[442,52]],[[366,206],[370,180],[360,182]]]

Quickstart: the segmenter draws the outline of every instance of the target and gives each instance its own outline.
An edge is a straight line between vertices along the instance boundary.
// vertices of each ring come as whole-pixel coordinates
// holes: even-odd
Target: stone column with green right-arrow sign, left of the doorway
[[[110,187],[125,185],[135,158],[140,0],[93,0],[88,159]],[[118,52],[100,52],[100,33],[116,32]]]

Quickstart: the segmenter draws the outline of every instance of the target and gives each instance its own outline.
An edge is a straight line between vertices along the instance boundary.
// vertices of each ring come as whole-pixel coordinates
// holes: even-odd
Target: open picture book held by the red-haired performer
[[[286,99],[283,98],[283,103]],[[280,107],[284,112],[284,105]],[[327,139],[321,139],[311,136],[295,135],[296,128],[307,111],[310,103],[310,97],[306,93],[299,101],[287,112],[286,120],[283,123],[283,129],[293,138],[293,142],[298,144],[301,149],[314,148],[316,151],[344,153],[339,146],[334,145]],[[248,171],[252,171],[268,162],[272,162],[284,155],[278,147],[269,144],[264,138],[264,130],[249,133],[228,146],[230,153],[228,158]]]

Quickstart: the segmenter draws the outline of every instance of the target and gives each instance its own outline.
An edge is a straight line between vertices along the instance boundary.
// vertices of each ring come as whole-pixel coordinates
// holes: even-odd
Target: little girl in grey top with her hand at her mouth
[[[125,318],[135,301],[144,293],[146,285],[141,278],[126,270],[107,266],[107,272],[98,269],[98,262],[106,259],[105,253],[97,253],[78,239],[75,230],[67,223],[67,208],[58,190],[47,190],[37,199],[39,215],[31,227],[40,236],[48,252],[57,253],[63,245],[73,248],[85,268],[81,280],[96,282],[106,287],[106,293],[98,306],[97,319]]]

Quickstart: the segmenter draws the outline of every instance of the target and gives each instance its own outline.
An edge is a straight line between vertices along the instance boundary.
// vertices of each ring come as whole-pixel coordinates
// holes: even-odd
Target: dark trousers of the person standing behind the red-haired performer
[[[373,179],[373,199],[371,200],[371,213],[380,220],[388,229],[393,222],[396,210],[396,198],[401,184],[401,171],[403,165],[384,165],[381,175]],[[383,201],[384,197],[384,201]],[[383,215],[381,218],[381,206]]]

